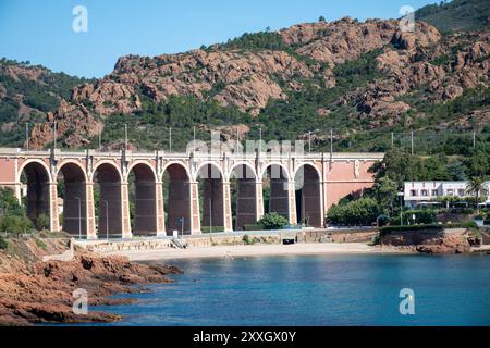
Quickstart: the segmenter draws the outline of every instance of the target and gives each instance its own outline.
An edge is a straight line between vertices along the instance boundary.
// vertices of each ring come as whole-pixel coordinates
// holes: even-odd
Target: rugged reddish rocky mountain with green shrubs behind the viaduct
[[[313,130],[319,149],[330,128],[338,140],[369,129],[481,129],[490,120],[489,53],[488,27],[441,34],[425,22],[416,33],[396,20],[304,23],[177,54],[122,57],[40,117],[57,120],[60,144],[75,148],[95,146],[102,129],[105,144],[118,142],[123,123],[136,147],[150,149],[167,146],[157,133],[182,128],[188,139],[193,125],[205,137],[220,127],[226,138],[236,127],[249,136],[262,127],[266,139]],[[442,116],[445,105],[461,112]],[[52,137],[49,123],[37,124],[29,145]]]

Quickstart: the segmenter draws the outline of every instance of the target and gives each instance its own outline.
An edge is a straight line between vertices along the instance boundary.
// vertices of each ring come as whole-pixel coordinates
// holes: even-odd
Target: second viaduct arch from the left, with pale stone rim
[[[73,236],[87,236],[87,174],[76,161],[62,162],[57,171],[64,181],[62,229]],[[58,195],[60,196],[60,191]]]

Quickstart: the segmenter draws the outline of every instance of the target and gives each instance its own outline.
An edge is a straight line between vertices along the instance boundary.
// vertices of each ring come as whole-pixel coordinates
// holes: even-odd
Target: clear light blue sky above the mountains
[[[433,0],[0,0],[0,57],[85,77],[110,73],[119,57],[183,52],[246,32],[350,15],[399,17]],[[88,33],[72,30],[75,5]]]

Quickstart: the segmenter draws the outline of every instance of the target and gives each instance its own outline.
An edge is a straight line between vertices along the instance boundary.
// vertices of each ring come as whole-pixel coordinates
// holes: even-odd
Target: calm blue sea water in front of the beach
[[[103,325],[490,325],[489,256],[356,254],[162,261],[185,273]],[[400,313],[413,289],[415,314]],[[100,325],[100,324],[95,324]]]

